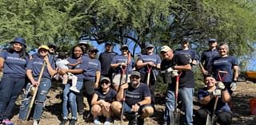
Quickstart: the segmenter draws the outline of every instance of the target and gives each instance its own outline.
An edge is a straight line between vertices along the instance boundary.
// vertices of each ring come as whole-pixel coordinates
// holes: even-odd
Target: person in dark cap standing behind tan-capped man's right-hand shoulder
[[[175,54],[184,54],[190,64],[196,65],[197,64],[197,58],[196,58],[196,53],[193,49],[190,49],[190,41],[188,38],[183,38],[181,41],[182,48],[181,49],[176,49]]]

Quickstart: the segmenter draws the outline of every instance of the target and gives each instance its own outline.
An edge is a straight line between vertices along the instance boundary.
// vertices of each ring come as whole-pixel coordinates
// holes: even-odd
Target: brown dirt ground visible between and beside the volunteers
[[[232,119],[233,125],[254,125],[256,124],[256,115],[250,115],[250,107],[249,100],[250,98],[256,98],[256,84],[246,81],[238,83],[238,89],[234,92],[232,102],[234,104],[234,118]],[[53,84],[53,88],[51,88],[48,94],[48,100],[46,101],[46,108],[43,112],[42,119],[40,121],[40,125],[52,124],[58,125],[62,120],[62,87],[59,84]],[[162,123],[162,115],[164,106],[164,96],[157,95],[158,104],[155,105],[156,112],[154,117],[147,118],[145,120],[145,124],[160,124]],[[194,98],[196,99],[196,98]],[[194,100],[196,103],[196,100]],[[21,104],[20,99],[17,101],[17,106],[14,108],[14,118],[12,121],[15,123],[18,118],[18,107]],[[86,103],[87,107],[88,104]],[[198,107],[194,105],[194,109],[196,110]],[[86,111],[88,112],[88,108]],[[88,121],[83,117],[84,115],[78,115],[78,125],[87,125],[94,124],[88,123]],[[114,124],[120,124],[120,121],[115,120]],[[122,124],[128,124],[128,122],[124,122]]]

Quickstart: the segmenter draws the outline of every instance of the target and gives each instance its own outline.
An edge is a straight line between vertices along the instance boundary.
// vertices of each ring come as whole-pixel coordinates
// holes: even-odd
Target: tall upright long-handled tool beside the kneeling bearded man
[[[129,64],[130,64],[130,53],[128,54],[128,57],[127,57],[127,66],[126,66],[126,82],[128,81],[128,73],[129,73]],[[123,123],[123,107],[125,106],[125,101],[126,101],[126,90],[124,90],[123,92],[123,97],[122,97],[122,109],[121,109],[121,121],[120,123],[122,124]]]

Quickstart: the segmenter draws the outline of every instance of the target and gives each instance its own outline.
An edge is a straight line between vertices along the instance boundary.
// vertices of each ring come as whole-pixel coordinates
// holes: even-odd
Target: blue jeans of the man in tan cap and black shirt
[[[185,111],[184,117],[182,117],[183,124],[192,125],[193,124],[193,95],[194,88],[179,88],[178,96],[182,101],[182,109]],[[174,111],[174,103],[175,103],[175,92],[174,90],[168,87],[167,95],[166,95],[166,110],[164,114],[164,120],[169,123],[172,119],[170,119],[170,114]]]

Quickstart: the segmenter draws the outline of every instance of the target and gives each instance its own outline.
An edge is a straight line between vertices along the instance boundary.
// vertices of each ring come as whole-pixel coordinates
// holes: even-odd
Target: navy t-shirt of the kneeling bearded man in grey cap
[[[140,83],[138,88],[133,88],[129,85],[126,90],[126,104],[130,107],[138,102],[144,100],[145,97],[150,97],[150,88],[143,83]]]

